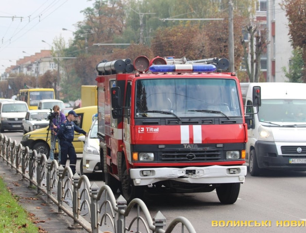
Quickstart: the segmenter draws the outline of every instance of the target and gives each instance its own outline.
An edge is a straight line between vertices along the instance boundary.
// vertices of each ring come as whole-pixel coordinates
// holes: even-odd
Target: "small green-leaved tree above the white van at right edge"
[[[285,76],[291,83],[305,83],[305,80],[302,79],[303,70],[305,67],[302,53],[303,50],[301,48],[292,50],[292,58],[291,63],[289,64],[289,70],[287,70],[286,67],[282,67]]]

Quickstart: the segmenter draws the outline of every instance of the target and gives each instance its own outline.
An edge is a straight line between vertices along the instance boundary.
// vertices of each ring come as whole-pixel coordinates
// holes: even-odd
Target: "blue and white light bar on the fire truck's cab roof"
[[[168,72],[214,72],[216,66],[212,64],[178,64],[178,65],[153,65],[149,68],[152,73]]]

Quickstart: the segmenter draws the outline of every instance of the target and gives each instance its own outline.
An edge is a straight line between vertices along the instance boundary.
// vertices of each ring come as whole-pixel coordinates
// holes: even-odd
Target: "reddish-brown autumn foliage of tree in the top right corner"
[[[294,49],[300,48],[306,64],[306,0],[283,0],[282,8],[286,10],[289,20],[289,36]],[[306,69],[301,79],[306,82]]]

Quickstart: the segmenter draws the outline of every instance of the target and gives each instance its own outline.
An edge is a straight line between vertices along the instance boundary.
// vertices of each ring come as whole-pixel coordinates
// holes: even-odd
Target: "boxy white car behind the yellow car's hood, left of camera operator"
[[[22,119],[23,134],[49,126],[50,110],[28,110]]]

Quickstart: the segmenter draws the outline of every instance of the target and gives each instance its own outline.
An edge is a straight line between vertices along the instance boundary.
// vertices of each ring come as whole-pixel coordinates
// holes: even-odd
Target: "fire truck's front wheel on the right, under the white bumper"
[[[240,183],[222,183],[216,188],[218,198],[223,204],[233,204],[238,199]]]

